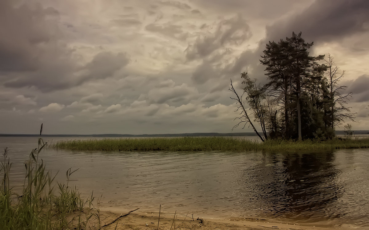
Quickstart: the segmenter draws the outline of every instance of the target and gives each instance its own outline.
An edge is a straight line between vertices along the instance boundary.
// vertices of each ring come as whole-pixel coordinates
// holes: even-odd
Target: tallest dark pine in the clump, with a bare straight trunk
[[[297,134],[299,140],[301,134],[301,97],[304,94],[304,86],[309,82],[312,73],[317,70],[318,60],[324,55],[317,57],[309,56],[307,51],[313,42],[306,43],[299,34],[292,33],[291,38],[281,39],[278,43],[270,42],[266,45],[260,62],[266,66],[266,74],[269,82],[265,85],[270,95],[279,98],[280,106],[284,112],[285,137],[293,136],[296,127],[292,127],[292,121],[296,112]]]

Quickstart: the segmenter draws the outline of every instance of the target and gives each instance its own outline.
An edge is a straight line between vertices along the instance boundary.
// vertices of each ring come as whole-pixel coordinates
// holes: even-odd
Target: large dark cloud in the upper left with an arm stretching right
[[[101,52],[85,67],[79,66],[74,50],[61,40],[58,22],[52,20],[58,14],[54,8],[42,8],[31,1],[19,7],[15,1],[0,1],[0,74],[6,76],[4,86],[61,90],[110,77],[128,64],[125,53]]]

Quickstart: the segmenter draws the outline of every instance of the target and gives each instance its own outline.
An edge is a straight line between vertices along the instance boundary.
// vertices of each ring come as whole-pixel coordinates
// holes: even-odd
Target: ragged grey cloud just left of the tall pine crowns
[[[207,25],[202,25],[208,28]],[[196,84],[206,83],[208,80],[219,80],[233,77],[233,73],[245,66],[245,63],[230,62],[233,50],[231,46],[241,45],[249,39],[251,31],[241,15],[223,20],[218,23],[214,33],[200,36],[185,50],[187,60],[202,59],[203,62],[196,67],[192,74],[192,80]],[[228,64],[227,64],[228,63]],[[242,66],[241,66],[242,65]],[[224,84],[211,90],[222,91]]]

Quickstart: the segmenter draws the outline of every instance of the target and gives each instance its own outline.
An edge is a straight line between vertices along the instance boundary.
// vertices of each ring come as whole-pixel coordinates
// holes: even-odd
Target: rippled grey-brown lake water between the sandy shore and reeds
[[[20,191],[24,162],[37,137],[0,137],[0,147],[10,149],[11,181]],[[164,212],[194,216],[369,228],[366,149],[274,154],[46,150],[40,157],[52,172],[59,171],[61,182],[68,168],[79,168],[70,183],[86,196],[92,191],[101,196],[101,209],[158,211],[163,204]]]

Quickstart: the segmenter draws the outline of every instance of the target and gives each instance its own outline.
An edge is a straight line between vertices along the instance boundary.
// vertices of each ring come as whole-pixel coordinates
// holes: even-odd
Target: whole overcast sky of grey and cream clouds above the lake
[[[1,0],[0,133],[252,132],[230,79],[266,82],[268,41],[334,57],[369,129],[367,0]]]

